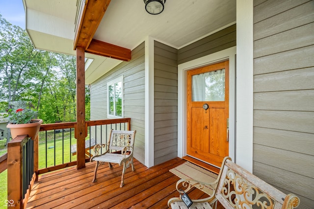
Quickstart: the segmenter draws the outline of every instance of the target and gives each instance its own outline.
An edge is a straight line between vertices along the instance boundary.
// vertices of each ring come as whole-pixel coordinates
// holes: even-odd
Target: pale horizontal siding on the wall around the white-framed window
[[[144,43],[131,52],[131,61],[122,62],[91,84],[91,120],[107,117],[107,82],[123,75],[124,117],[131,118],[131,130],[136,130],[134,157],[145,160],[145,49]]]

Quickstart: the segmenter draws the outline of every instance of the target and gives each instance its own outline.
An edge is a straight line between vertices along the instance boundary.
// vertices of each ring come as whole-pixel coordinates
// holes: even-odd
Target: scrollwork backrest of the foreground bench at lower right
[[[286,195],[272,185],[225,158],[216,188],[216,199],[224,208],[286,209],[289,204],[299,205],[299,198]],[[263,206],[263,207],[262,207]]]

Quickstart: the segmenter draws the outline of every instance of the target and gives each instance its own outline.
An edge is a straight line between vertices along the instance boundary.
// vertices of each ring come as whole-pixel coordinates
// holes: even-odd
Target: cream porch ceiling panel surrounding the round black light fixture
[[[147,36],[180,49],[235,22],[235,0],[168,0],[150,15],[142,0],[111,1],[95,39],[134,49]]]

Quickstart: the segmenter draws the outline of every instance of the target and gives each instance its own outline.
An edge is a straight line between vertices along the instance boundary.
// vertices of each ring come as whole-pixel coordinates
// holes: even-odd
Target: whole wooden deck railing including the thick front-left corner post
[[[95,143],[107,143],[111,129],[131,130],[130,118],[86,121],[85,124],[88,133],[86,140],[89,140],[89,146],[85,143],[87,145],[85,161],[89,161],[92,156],[92,139]],[[76,153],[71,150],[71,147],[76,145],[75,130],[76,122],[44,124],[41,125],[35,139],[20,135],[8,143],[7,156],[1,156],[0,163],[0,167],[7,166],[8,169],[7,204],[10,205],[8,207],[26,206],[31,186],[37,181],[39,174],[77,164]],[[53,145],[53,148],[51,146],[53,152],[49,153],[50,145]],[[4,165],[5,161],[7,161],[6,165]]]

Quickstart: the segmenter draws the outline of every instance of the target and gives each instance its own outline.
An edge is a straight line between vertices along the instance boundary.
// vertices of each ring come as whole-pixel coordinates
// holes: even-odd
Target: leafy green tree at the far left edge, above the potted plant
[[[13,26],[0,15],[0,97],[2,100],[20,100],[33,86],[34,60],[38,51],[32,46],[25,30]],[[4,87],[4,88],[3,88]],[[25,98],[28,100],[28,98]]]

